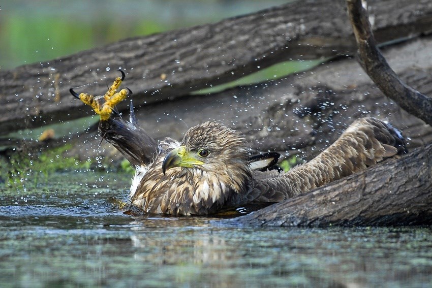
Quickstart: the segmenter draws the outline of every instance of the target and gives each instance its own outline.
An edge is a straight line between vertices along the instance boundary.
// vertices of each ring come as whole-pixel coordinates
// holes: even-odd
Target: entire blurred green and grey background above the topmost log
[[[0,69],[134,36],[216,22],[289,0],[28,1],[0,3]]]

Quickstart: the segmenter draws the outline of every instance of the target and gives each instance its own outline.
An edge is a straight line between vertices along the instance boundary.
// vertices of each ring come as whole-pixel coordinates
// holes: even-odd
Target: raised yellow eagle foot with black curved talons
[[[71,94],[81,100],[85,105],[90,106],[93,110],[101,117],[102,121],[106,121],[110,118],[114,106],[125,100],[128,95],[132,94],[132,91],[128,89],[121,89],[117,92],[121,82],[125,79],[125,73],[119,70],[121,77],[116,77],[112,85],[108,88],[105,95],[94,96],[88,93],[76,93],[73,88],[69,91]]]

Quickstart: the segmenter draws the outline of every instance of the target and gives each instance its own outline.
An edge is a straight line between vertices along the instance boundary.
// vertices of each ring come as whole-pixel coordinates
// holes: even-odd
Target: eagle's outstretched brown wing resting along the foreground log
[[[249,193],[258,202],[279,202],[406,151],[402,135],[391,125],[375,118],[362,118],[310,162],[285,174],[255,172]]]

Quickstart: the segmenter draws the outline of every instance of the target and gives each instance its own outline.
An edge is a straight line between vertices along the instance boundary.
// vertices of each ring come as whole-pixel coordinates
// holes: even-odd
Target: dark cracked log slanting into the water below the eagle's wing
[[[233,220],[252,226],[432,223],[432,144]]]

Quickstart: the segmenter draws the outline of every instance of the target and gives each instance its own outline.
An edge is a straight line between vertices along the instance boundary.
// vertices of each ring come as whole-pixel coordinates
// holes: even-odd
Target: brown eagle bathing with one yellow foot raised
[[[250,156],[243,136],[218,121],[191,127],[181,142],[156,141],[115,105],[132,94],[117,77],[105,95],[70,89],[100,115],[99,133],[136,169],[130,198],[146,213],[208,215],[254,204],[268,205],[351,175],[384,158],[406,153],[405,140],[390,124],[372,117],[354,121],[327,149],[288,172],[275,168],[279,154]]]

